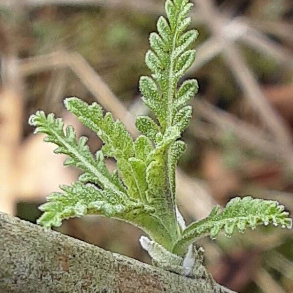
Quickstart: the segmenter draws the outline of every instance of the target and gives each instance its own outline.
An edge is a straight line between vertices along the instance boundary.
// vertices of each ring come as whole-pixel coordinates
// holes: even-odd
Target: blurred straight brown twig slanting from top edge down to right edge
[[[260,90],[251,70],[240,55],[236,45],[225,34],[226,20],[218,13],[209,0],[196,0],[198,9],[215,38],[225,41],[223,54],[226,62],[240,84],[246,98],[255,110],[258,111],[263,123],[274,134],[282,151],[287,153],[288,160],[292,160],[293,148],[291,134],[282,118],[274,111]],[[242,34],[243,35],[243,34]]]

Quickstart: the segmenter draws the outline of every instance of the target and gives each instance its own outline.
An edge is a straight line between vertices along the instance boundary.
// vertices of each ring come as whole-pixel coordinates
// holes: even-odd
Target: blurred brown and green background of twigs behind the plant
[[[136,136],[133,116],[147,113],[138,80],[148,74],[148,35],[163,0],[0,0],[0,210],[35,222],[45,196],[70,184],[54,146],[33,136],[37,109],[66,113],[63,99],[97,101]],[[186,78],[200,90],[184,134],[178,205],[188,222],[216,203],[251,195],[293,210],[293,2],[193,0],[197,59]],[[114,162],[108,162],[109,166]],[[111,167],[111,166],[110,166]],[[141,231],[105,218],[65,221],[63,233],[149,262]],[[206,264],[217,282],[243,293],[293,292],[293,233],[248,230],[204,239]]]

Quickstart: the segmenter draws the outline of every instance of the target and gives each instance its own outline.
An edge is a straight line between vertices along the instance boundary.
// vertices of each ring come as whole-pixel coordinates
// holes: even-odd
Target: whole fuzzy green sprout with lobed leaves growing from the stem
[[[104,146],[93,156],[86,145],[87,138],[76,139],[72,126],[63,130],[63,120],[54,114],[38,111],[29,123],[36,133],[47,134],[45,142],[56,144],[55,153],[68,156],[65,166],[83,171],[72,186],[61,186],[63,192],[47,197],[39,224],[60,226],[63,219],[86,214],[103,215],[129,222],[151,238],[141,238],[142,246],[154,264],[185,275],[198,274],[202,251],[192,246],[197,239],[220,230],[230,236],[234,230],[244,232],[257,225],[281,225],[290,228],[292,220],[284,207],[274,201],[234,198],[226,209],[215,207],[209,216],[187,228],[175,203],[175,168],[185,151],[180,140],[192,115],[188,101],[196,94],[196,80],[178,84],[195,58],[189,47],[197,38],[197,31],[186,31],[191,20],[187,17],[192,4],[189,0],[167,0],[167,20],[160,17],[157,33],[151,33],[152,50],[146,53],[146,65],[151,77],[140,79],[143,102],[155,114],[136,119],[142,133],[135,141],[125,126],[115,121],[111,113],[104,115],[96,103],[88,105],[78,98],[64,101],[88,128],[103,140]],[[110,173],[105,157],[117,161],[118,170]]]

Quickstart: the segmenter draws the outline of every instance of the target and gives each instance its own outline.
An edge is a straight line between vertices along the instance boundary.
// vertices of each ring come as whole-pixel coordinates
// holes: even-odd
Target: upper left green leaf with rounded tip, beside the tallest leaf
[[[72,112],[88,128],[95,131],[104,142],[102,151],[105,156],[117,160],[123,181],[132,198],[146,199],[146,167],[139,159],[134,159],[133,139],[121,121],[114,121],[111,113],[103,114],[97,103],[88,105],[78,98],[69,98],[64,102],[68,111]]]

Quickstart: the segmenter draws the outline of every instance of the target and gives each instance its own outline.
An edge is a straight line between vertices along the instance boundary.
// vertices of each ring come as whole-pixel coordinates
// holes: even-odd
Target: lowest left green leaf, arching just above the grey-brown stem
[[[59,227],[64,219],[84,215],[103,215],[128,222],[144,230],[158,243],[170,248],[171,238],[151,206],[130,198],[121,199],[112,190],[102,190],[93,184],[77,181],[71,186],[60,186],[62,192],[47,196],[40,206],[44,212],[38,223],[44,227]]]

